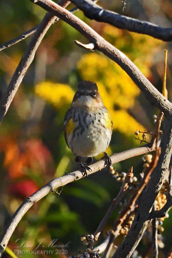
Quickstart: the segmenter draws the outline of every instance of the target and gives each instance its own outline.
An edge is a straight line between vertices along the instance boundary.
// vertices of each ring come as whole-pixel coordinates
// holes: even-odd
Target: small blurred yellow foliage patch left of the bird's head
[[[57,108],[71,103],[75,94],[69,85],[50,81],[38,83],[35,87],[35,93]]]

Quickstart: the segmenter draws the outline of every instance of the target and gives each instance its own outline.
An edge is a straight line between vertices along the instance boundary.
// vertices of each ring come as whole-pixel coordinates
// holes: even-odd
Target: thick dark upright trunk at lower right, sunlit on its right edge
[[[151,179],[140,197],[140,205],[136,211],[131,228],[114,253],[113,258],[130,257],[140,242],[144,231],[151,222],[151,220],[148,220],[148,214],[150,213],[159,190],[162,187],[163,181],[167,176],[172,153],[172,121],[165,118],[163,124],[165,128],[161,138],[161,155],[159,157],[158,165],[154,169]]]

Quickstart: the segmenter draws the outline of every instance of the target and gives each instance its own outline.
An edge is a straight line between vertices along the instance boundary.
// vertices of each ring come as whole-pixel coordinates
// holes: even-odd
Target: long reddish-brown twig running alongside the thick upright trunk
[[[113,230],[110,234],[110,240],[109,240],[109,243],[108,243],[108,245],[105,249],[103,258],[109,257],[110,252],[111,252],[112,247],[113,247],[114,239],[118,236],[118,233],[120,231],[122,223],[124,222],[128,212],[130,212],[130,210],[134,208],[136,200],[138,199],[138,197],[140,196],[144,187],[146,186],[146,184],[148,183],[148,181],[150,179],[150,174],[152,173],[154,168],[157,166],[157,162],[158,162],[158,159],[159,159],[160,152],[161,152],[160,148],[156,147],[155,156],[153,157],[152,162],[150,163],[150,167],[145,169],[144,177],[143,177],[142,181],[140,182],[140,184],[138,186],[138,189],[136,189],[135,193],[132,194],[132,196],[130,197],[130,200],[128,201],[126,206],[124,206],[124,208],[121,210],[118,218],[115,220]]]

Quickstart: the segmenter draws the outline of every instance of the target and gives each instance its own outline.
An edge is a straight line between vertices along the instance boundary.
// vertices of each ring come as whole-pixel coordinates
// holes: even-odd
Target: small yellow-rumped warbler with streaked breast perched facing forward
[[[68,147],[77,155],[75,161],[81,163],[83,176],[90,167],[83,164],[81,157],[88,157],[86,164],[91,164],[94,156],[105,154],[105,165],[111,166],[111,159],[105,153],[112,134],[112,118],[103,105],[96,83],[82,81],[71,108],[64,117],[64,137]]]

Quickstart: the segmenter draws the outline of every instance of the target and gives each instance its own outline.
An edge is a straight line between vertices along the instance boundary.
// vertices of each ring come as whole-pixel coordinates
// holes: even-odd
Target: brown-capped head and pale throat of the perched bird
[[[76,107],[100,107],[103,105],[97,84],[93,81],[81,81],[78,83],[77,92],[72,101]]]

